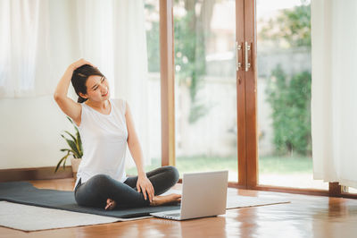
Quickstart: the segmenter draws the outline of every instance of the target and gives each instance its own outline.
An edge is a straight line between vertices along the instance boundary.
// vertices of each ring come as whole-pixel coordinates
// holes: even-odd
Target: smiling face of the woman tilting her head
[[[87,94],[84,96],[87,96],[86,98],[92,101],[104,101],[110,96],[109,84],[105,77],[98,75],[89,76],[86,86]]]

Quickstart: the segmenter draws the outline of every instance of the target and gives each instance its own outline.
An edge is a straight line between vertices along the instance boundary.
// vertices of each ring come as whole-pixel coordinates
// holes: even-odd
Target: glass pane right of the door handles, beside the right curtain
[[[312,178],[309,0],[257,0],[259,184],[328,190]]]

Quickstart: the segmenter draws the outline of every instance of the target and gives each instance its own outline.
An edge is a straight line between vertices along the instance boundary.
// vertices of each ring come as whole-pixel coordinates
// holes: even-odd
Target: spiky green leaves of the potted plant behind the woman
[[[64,135],[61,134],[62,138],[67,141],[71,149],[61,149],[61,151],[67,151],[67,154],[60,159],[58,162],[54,173],[57,172],[58,168],[63,164],[63,169],[65,169],[67,157],[73,155],[75,158],[81,158],[83,156],[82,140],[80,140],[79,130],[72,122],[71,118],[67,116],[67,119],[73,124],[74,129],[76,130],[76,136],[72,135],[70,132],[64,131],[71,136],[71,139],[67,139]]]

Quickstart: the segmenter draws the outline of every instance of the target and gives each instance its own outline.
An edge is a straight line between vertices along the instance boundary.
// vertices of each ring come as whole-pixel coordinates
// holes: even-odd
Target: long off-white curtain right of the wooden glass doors
[[[357,188],[357,1],[311,1],[314,179]]]

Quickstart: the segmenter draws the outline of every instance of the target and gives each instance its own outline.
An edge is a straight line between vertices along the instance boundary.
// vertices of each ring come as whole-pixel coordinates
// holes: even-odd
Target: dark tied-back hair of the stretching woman
[[[84,64],[73,71],[71,82],[74,90],[79,96],[79,92],[87,94],[86,82],[89,76],[98,75],[104,77],[103,73],[100,72],[97,68],[89,64]],[[87,98],[82,98],[79,96],[77,102],[82,103],[87,101]]]

